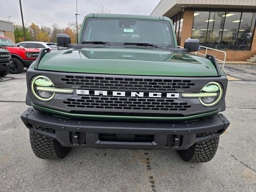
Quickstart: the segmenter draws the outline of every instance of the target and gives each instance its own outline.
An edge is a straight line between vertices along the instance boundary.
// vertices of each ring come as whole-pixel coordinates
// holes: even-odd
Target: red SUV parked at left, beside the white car
[[[10,73],[21,73],[24,67],[28,68],[38,57],[38,49],[17,47],[10,38],[0,36],[0,48],[7,49],[11,55],[13,64],[10,66]]]

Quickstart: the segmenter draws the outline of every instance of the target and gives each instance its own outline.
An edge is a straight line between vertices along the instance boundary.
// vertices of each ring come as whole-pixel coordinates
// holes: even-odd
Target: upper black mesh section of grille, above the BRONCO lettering
[[[91,90],[175,92],[177,89],[190,89],[195,85],[191,80],[112,78],[100,76],[66,76],[61,80],[67,85],[78,85],[80,88]]]

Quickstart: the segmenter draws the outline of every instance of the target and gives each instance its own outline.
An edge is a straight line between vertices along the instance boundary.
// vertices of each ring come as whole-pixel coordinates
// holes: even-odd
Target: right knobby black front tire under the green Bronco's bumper
[[[197,134],[197,137],[204,137],[208,135],[214,135],[216,132],[206,132]],[[190,146],[187,150],[177,150],[178,154],[182,160],[187,162],[198,162],[204,163],[212,160],[216,154],[220,136],[202,141],[200,143],[195,143]]]

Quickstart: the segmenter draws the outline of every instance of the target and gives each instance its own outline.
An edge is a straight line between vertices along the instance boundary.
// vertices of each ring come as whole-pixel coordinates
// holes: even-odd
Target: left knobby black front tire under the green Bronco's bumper
[[[45,132],[54,132],[52,129],[35,127]],[[34,154],[40,159],[62,159],[70,151],[69,147],[63,147],[56,139],[52,139],[45,135],[34,131],[29,131],[30,144]]]

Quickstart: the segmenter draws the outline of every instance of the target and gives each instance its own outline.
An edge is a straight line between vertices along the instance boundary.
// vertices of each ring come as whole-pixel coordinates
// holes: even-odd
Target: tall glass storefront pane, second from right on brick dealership
[[[226,12],[220,49],[235,49],[240,18],[239,12]]]

